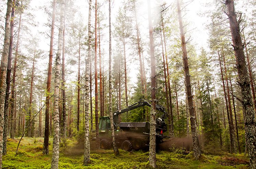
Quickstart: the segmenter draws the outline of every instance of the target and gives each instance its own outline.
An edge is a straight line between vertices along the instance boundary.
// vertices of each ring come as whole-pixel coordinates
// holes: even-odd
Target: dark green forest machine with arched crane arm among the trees
[[[142,107],[151,107],[151,105],[141,99],[140,101],[129,105],[127,108],[117,110],[113,113],[115,139],[118,147],[125,151],[148,149],[149,146],[149,122],[121,122],[118,124],[118,115],[128,112],[130,110]],[[163,133],[167,131],[167,125],[164,119],[167,118],[167,113],[162,105],[156,105],[156,110],[163,112],[161,117],[156,118],[156,150],[158,150],[159,144],[163,143],[164,138],[170,138],[164,136]],[[100,148],[109,149],[112,145],[111,131],[110,131],[110,118],[109,116],[100,117],[99,122],[99,135],[100,135]],[[119,130],[118,130],[119,128]]]

